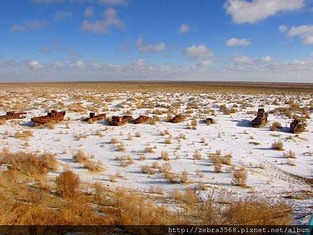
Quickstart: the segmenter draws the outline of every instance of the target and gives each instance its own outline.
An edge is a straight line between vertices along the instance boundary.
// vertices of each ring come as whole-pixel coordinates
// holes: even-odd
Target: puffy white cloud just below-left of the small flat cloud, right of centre
[[[193,44],[184,49],[184,55],[198,60],[201,65],[207,66],[212,63],[213,51],[207,48],[204,44]]]

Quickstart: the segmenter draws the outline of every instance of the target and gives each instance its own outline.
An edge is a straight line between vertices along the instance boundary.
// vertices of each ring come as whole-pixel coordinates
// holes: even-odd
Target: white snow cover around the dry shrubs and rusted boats
[[[22,92],[25,90],[19,90]],[[0,90],[0,95],[5,95],[7,90]],[[79,95],[95,95],[97,102],[93,100],[79,99]],[[141,92],[120,92],[120,93],[102,93],[83,92],[71,90],[67,93],[60,92],[56,94],[49,93],[50,97],[35,97],[31,92],[25,92],[22,100],[28,109],[28,117],[24,120],[7,121],[6,124],[0,125],[0,145],[8,147],[11,152],[30,151],[51,152],[57,154],[58,161],[64,166],[72,168],[79,174],[82,180],[99,181],[109,186],[123,186],[136,190],[148,192],[152,186],[163,189],[163,192],[170,192],[175,188],[183,190],[187,187],[194,188],[199,182],[207,186],[207,189],[201,191],[203,197],[216,197],[218,200],[239,200],[243,197],[266,197],[268,200],[288,200],[294,205],[300,217],[303,214],[312,213],[312,185],[307,184],[304,178],[313,178],[313,122],[307,119],[307,131],[298,135],[289,133],[289,124],[291,118],[282,114],[269,114],[268,124],[265,127],[252,128],[250,120],[255,114],[248,114],[248,111],[257,111],[257,108],[264,107],[266,111],[271,111],[277,107],[287,107],[285,102],[289,99],[299,104],[299,106],[312,105],[312,95],[258,95],[245,92],[230,92],[227,94],[212,93],[188,93],[188,92],[153,92],[152,95]],[[6,105],[20,102],[20,97],[8,100]],[[106,102],[106,97],[118,97],[113,102]],[[194,97],[195,99],[190,99]],[[130,99],[131,98],[131,99]],[[134,102],[149,102],[154,104],[154,108],[138,108]],[[280,100],[278,100],[280,98]],[[241,106],[238,102],[246,100],[246,105]],[[182,105],[177,108],[177,113],[185,113],[188,102],[198,104],[200,110],[211,109],[215,115],[205,115],[198,109],[192,108],[191,117],[187,117],[184,122],[173,124],[166,122],[167,114],[158,115],[161,121],[152,125],[145,124],[125,124],[120,127],[110,127],[106,122],[81,122],[81,117],[88,116],[88,106],[99,107],[99,101],[102,107],[106,106],[109,111],[102,111],[99,108],[98,113],[106,113],[107,117],[112,115],[122,115],[125,111],[131,110],[133,117],[139,114],[149,113],[155,109],[167,111],[167,106],[181,102]],[[278,103],[274,104],[274,101]],[[77,113],[67,111],[68,104],[77,104],[82,102],[85,111]],[[31,117],[45,115],[47,109],[51,107],[64,106],[63,110],[67,111],[65,121],[56,124],[55,129],[42,129],[31,127]],[[124,106],[120,107],[123,103]],[[137,104],[136,103],[136,104]],[[226,104],[232,108],[238,104],[238,112],[224,115],[219,110],[221,104]],[[159,106],[158,106],[159,105]],[[4,106],[4,104],[3,104]],[[3,107],[2,106],[2,107]],[[60,109],[61,110],[61,109]],[[190,110],[190,109],[189,109]],[[6,110],[0,109],[0,113]],[[310,115],[312,116],[312,111]],[[198,118],[196,129],[187,129],[186,124],[191,123],[192,117],[204,115],[213,117],[216,124],[206,125],[202,122],[203,118]],[[66,120],[70,117],[70,120]],[[280,122],[282,129],[270,131],[269,127],[273,122]],[[70,129],[65,127],[69,124]],[[31,129],[33,136],[27,140],[15,138],[16,131]],[[161,131],[168,130],[170,135],[162,136]],[[96,134],[97,131],[97,134]],[[136,137],[136,132],[141,133],[141,137]],[[6,134],[8,136],[6,137]],[[101,136],[99,136],[101,133]],[[77,136],[85,138],[78,139]],[[129,139],[129,135],[132,139]],[[181,138],[179,138],[179,135]],[[182,136],[185,136],[182,138]],[[3,138],[1,138],[3,137]],[[117,145],[111,144],[111,138],[117,138],[124,143],[125,151],[118,152]],[[171,138],[172,143],[166,144],[166,138]],[[202,138],[202,141],[201,141]],[[203,143],[203,138],[205,143]],[[271,149],[274,141],[280,140],[284,149],[292,150],[296,154],[296,159],[287,159],[284,151]],[[202,142],[202,143],[201,143]],[[145,147],[153,147],[154,152],[145,151]],[[79,149],[92,155],[96,161],[105,165],[106,170],[97,174],[91,174],[81,164],[73,160],[73,153]],[[222,172],[214,172],[214,163],[209,158],[220,149],[221,154],[232,154],[232,166],[223,165]],[[141,166],[152,165],[157,161],[159,165],[164,163],[161,160],[161,151],[168,152],[172,165],[172,172],[181,174],[184,169],[188,172],[188,179],[191,184],[170,184],[161,173],[154,175],[143,174]],[[202,159],[193,159],[193,154],[198,151]],[[142,156],[145,160],[142,160]],[[134,164],[122,167],[116,156],[131,156]],[[178,158],[176,156],[179,156]],[[288,164],[287,164],[288,163]],[[291,164],[292,163],[292,164]],[[241,188],[231,184],[234,170],[244,167],[248,172],[248,188]],[[61,172],[62,168],[60,168]],[[198,171],[198,174],[196,173]],[[120,172],[124,179],[117,179],[111,182],[109,177]],[[199,174],[201,172],[202,174]],[[55,172],[54,175],[58,174]],[[202,175],[200,177],[200,175]],[[300,191],[311,191],[311,196],[306,200],[291,200],[284,196],[296,195]],[[308,217],[303,218],[303,222]]]

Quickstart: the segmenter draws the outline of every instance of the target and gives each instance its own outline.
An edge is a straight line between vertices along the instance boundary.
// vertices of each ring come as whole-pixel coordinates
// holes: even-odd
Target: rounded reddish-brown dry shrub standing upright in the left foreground
[[[74,197],[77,195],[80,179],[71,170],[65,170],[56,177],[56,190],[62,197]]]

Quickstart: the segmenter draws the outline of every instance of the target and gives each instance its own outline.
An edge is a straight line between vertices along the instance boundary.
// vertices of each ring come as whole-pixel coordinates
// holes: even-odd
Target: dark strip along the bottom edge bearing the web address
[[[2,225],[0,234],[312,234],[307,226]]]

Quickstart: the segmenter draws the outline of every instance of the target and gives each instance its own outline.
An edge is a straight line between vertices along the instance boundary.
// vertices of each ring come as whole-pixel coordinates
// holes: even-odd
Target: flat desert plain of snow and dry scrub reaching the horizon
[[[268,113],[268,122],[251,127],[258,108]],[[0,191],[8,192],[9,180],[27,190],[33,186],[42,191],[45,186],[45,197],[61,197],[54,181],[68,170],[79,177],[83,195],[94,195],[97,187],[111,192],[124,188],[171,213],[192,211],[198,202],[210,200],[216,210],[224,211],[218,217],[243,201],[261,200],[288,206],[294,223],[306,224],[313,204],[312,108],[312,85],[1,84],[0,115],[25,111],[27,117],[1,122]],[[31,117],[51,110],[66,111],[64,120],[33,126]],[[82,122],[90,112],[105,113],[106,118]],[[145,115],[150,120],[111,126],[113,115]],[[175,115],[184,120],[169,122]],[[212,124],[204,121],[208,117]],[[305,131],[290,133],[294,117],[305,120]],[[50,154],[56,163],[47,172],[31,175],[18,164],[18,157],[12,160],[28,153]],[[15,202],[23,203],[12,187],[10,192]],[[185,222],[190,221],[199,220]],[[237,221],[242,222],[249,224]]]

